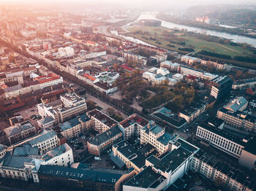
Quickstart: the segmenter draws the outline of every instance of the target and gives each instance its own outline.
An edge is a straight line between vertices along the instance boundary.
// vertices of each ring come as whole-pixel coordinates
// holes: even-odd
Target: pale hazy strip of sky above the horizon
[[[0,0],[3,4],[34,4],[37,7],[103,8],[104,9],[140,9],[143,11],[185,11],[196,5],[206,4],[243,4],[256,5],[256,0]],[[48,8],[49,8],[48,7]]]

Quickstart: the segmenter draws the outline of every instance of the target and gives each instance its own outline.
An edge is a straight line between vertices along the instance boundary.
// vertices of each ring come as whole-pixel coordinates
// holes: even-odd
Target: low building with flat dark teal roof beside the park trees
[[[156,112],[151,114],[154,117],[154,120],[163,122],[164,124],[169,125],[170,127],[180,129],[187,124],[187,121],[183,117],[178,117],[176,114],[173,114],[169,109],[162,107]]]

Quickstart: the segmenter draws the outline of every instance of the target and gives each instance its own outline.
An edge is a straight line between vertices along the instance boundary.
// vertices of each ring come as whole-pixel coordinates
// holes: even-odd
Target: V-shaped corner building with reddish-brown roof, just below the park
[[[119,124],[122,132],[124,133],[124,140],[127,140],[132,136],[140,137],[140,130],[144,126],[148,125],[148,120],[138,114],[132,114]]]

